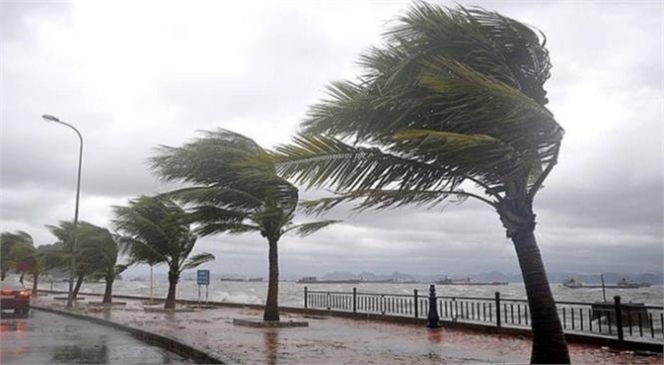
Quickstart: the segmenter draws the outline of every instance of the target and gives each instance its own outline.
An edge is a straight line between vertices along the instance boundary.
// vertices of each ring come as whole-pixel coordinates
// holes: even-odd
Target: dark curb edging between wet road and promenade
[[[176,340],[171,337],[163,336],[163,335],[158,335],[156,333],[148,332],[145,330],[141,330],[138,328],[134,327],[129,327],[120,323],[112,322],[112,321],[107,321],[105,319],[101,318],[96,318],[96,317],[90,317],[78,313],[70,313],[70,312],[65,312],[65,311],[60,311],[57,309],[52,309],[52,308],[46,308],[46,307],[41,307],[41,306],[35,306],[35,305],[30,305],[32,309],[44,311],[44,312],[50,312],[50,313],[56,313],[64,316],[69,316],[77,319],[82,319],[85,321],[90,321],[94,322],[97,324],[101,324],[104,326],[108,327],[113,327],[115,329],[119,329],[121,331],[129,332],[131,333],[134,337],[138,338],[139,340],[146,342],[151,345],[155,345],[158,347],[163,348],[164,350],[176,353],[184,358],[189,358],[194,360],[198,364],[225,364],[225,362],[217,359],[216,357],[213,357],[212,355],[201,351],[193,346],[187,345],[179,340]]]

